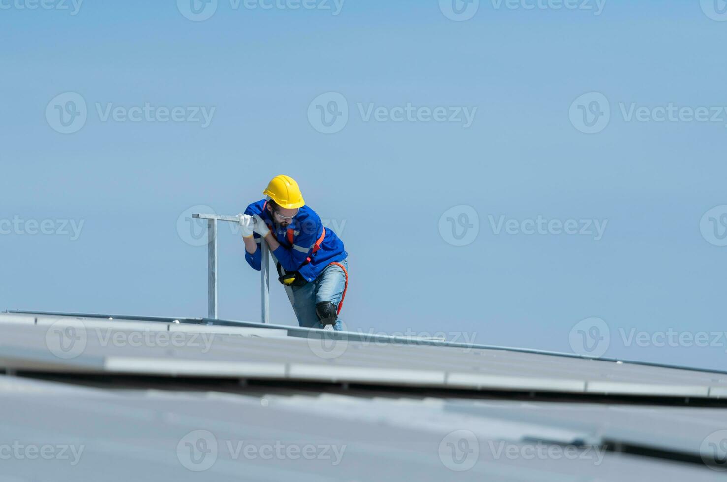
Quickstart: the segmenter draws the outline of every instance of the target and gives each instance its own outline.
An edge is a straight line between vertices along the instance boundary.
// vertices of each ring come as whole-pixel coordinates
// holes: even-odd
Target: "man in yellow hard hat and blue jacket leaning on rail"
[[[275,176],[262,193],[266,199],[238,215],[247,263],[260,271],[260,243],[267,242],[298,324],[341,330],[338,314],[348,287],[343,242],[305,205],[292,177]]]

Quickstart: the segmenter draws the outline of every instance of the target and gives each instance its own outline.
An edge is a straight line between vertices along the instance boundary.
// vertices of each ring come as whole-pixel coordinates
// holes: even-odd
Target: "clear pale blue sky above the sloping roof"
[[[461,22],[436,0],[347,0],[339,15],[219,0],[204,21],[171,0],[85,1],[76,15],[70,1],[18,2],[0,9],[0,219],[84,224],[76,240],[32,225],[0,234],[0,309],[204,316],[206,249],[183,242],[177,219],[193,205],[242,212],[286,173],[343,226],[350,330],[572,351],[571,327],[597,316],[606,356],[727,368],[725,338],[640,347],[619,334],[727,331],[727,247],[700,232],[727,204],[727,113],[638,122],[619,107],[727,106],[727,22],[699,1],[612,0],[594,15],[483,0]],[[87,103],[73,134],[46,116],[66,92]],[[326,92],[350,107],[334,134],[308,120]],[[597,134],[569,118],[589,92],[611,107]],[[147,102],[214,115],[202,128],[97,112]],[[371,103],[477,111],[468,128],[366,121],[358,104]],[[439,230],[458,205],[479,218],[465,246]],[[495,234],[489,216],[608,224],[595,241]],[[220,316],[256,321],[259,277],[243,249],[221,226]],[[293,324],[272,289],[273,322]]]

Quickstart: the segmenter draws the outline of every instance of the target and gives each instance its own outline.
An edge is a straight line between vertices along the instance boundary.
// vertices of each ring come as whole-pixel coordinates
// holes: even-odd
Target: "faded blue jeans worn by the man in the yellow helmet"
[[[340,263],[348,271],[348,260],[345,259]],[[295,316],[298,318],[298,324],[308,328],[325,328],[325,325],[321,323],[316,314],[316,305],[330,301],[338,306],[345,284],[346,277],[341,266],[329,264],[312,282],[300,287],[290,287],[289,290],[292,290],[290,298],[293,303],[293,311],[295,311]],[[341,319],[337,319],[333,329],[341,330]]]

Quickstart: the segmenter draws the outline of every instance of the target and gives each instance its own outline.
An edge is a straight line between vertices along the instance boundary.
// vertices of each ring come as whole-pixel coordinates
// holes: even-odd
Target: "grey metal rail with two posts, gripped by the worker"
[[[217,319],[217,221],[238,222],[237,216],[216,214],[193,214],[195,219],[207,220],[207,317]],[[263,323],[270,322],[270,257],[268,243],[260,240],[260,317]]]

